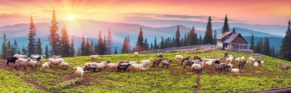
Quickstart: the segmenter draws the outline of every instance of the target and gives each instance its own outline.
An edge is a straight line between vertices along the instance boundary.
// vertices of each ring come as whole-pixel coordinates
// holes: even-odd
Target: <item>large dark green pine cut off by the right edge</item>
[[[287,61],[291,61],[291,22],[288,21],[288,28],[286,30],[286,35],[282,40],[282,45],[279,51],[279,58]]]

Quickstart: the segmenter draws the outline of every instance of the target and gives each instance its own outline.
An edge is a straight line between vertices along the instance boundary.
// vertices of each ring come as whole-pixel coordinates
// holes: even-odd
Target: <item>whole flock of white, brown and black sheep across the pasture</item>
[[[134,53],[135,57],[138,57],[138,53]],[[152,58],[149,58],[148,60],[142,60],[140,64],[138,64],[138,61],[130,62],[129,60],[125,62],[117,62],[117,63],[110,63],[110,61],[107,62],[92,62],[97,60],[99,55],[91,55],[90,60],[91,62],[87,62],[84,64],[84,66],[76,66],[73,68],[73,70],[76,70],[76,74],[82,77],[84,75],[84,70],[90,70],[93,69],[94,72],[96,72],[96,69],[99,69],[99,71],[103,70],[117,70],[117,72],[121,72],[124,70],[124,72],[130,68],[132,70],[136,71],[147,71],[149,69],[148,65],[152,62],[152,67],[154,68],[156,65],[159,67],[159,64],[162,64],[162,68],[166,65],[167,68],[169,67],[169,64],[172,62],[172,60],[167,60],[166,58],[163,58],[162,53],[158,53],[156,57],[160,58],[159,60],[153,60]],[[19,66],[24,66],[24,70],[26,66],[32,66],[34,69],[34,66],[40,65],[42,61],[44,61],[45,56],[44,55],[31,55],[29,58],[27,58],[26,55],[14,55],[13,57],[7,58],[6,66],[9,66],[9,62],[14,62],[15,67],[14,69],[18,70]],[[176,55],[176,61],[181,60],[181,65],[187,66],[189,65],[191,67],[192,72],[197,71],[199,73],[200,70],[210,68],[211,66],[214,66],[214,72],[216,73],[217,70],[231,70],[231,72],[239,72],[239,69],[233,68],[232,62],[239,61],[239,68],[243,68],[244,64],[246,63],[254,63],[254,66],[263,65],[263,61],[256,62],[255,58],[250,57],[249,59],[245,60],[245,57],[242,56],[242,58],[238,57],[232,57],[232,55],[228,56],[228,53],[224,54],[224,57],[226,59],[226,63],[220,63],[220,58],[215,57],[213,59],[207,59],[207,58],[200,58],[198,56],[194,56],[194,61],[190,61],[190,56],[183,58],[181,55]],[[214,65],[216,63],[216,65]],[[57,65],[61,64],[62,66],[69,67],[72,65],[72,63],[65,62],[64,59],[62,59],[62,56],[56,56],[53,55],[51,58],[49,58],[48,62],[45,62],[41,64],[41,69],[43,68],[49,68],[49,65]],[[146,67],[145,67],[146,66]]]

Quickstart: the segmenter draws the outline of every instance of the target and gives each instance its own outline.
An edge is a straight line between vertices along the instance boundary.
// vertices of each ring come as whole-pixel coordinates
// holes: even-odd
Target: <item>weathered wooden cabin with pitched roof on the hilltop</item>
[[[226,50],[250,51],[248,44],[240,33],[225,32],[216,37],[217,47]]]

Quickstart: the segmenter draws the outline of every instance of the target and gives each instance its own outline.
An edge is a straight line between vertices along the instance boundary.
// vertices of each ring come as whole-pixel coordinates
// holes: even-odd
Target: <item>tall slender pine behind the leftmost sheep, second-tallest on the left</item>
[[[27,53],[28,55],[32,55],[32,54],[35,54],[35,51],[36,51],[36,39],[34,38],[36,36],[36,28],[34,26],[34,23],[33,23],[33,19],[32,19],[32,16],[31,16],[31,19],[30,19],[30,26],[29,26],[29,33],[28,33],[28,47],[27,47]]]

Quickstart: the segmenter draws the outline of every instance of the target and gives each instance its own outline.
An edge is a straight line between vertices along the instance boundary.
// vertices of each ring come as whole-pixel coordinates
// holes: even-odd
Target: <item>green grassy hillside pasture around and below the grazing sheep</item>
[[[236,57],[250,57],[248,53],[229,51],[211,51],[197,55],[201,58],[214,58],[222,57],[226,52]],[[277,70],[278,61],[288,63],[287,61],[264,56],[262,61],[265,64],[263,66],[255,67],[253,64],[246,64],[243,69],[240,68],[240,73],[231,73],[228,71],[214,73],[213,66],[203,69],[202,73],[194,73],[189,66],[183,68],[180,65],[180,61],[176,62],[174,60],[176,55],[177,53],[163,54],[164,58],[174,61],[169,65],[169,68],[162,68],[162,64],[159,67],[152,68],[150,64],[148,72],[130,71],[129,69],[126,73],[110,72],[107,70],[97,71],[96,73],[93,73],[92,70],[85,71],[82,82],[59,88],[52,86],[76,78],[77,75],[72,68],[90,62],[90,56],[64,58],[66,62],[73,63],[73,66],[69,69],[50,66],[49,70],[42,70],[40,67],[37,67],[35,70],[33,68],[24,70],[23,67],[19,67],[19,71],[15,71],[12,63],[10,63],[12,64],[10,66],[4,66],[4,62],[1,62],[0,69],[13,72],[17,76],[16,78],[25,79],[26,82],[32,83],[34,86],[40,85],[56,93],[239,93],[291,86],[291,72]],[[193,54],[182,54],[182,56],[191,56],[190,60],[193,60],[194,57]],[[147,60],[149,58],[158,60],[155,54],[140,54],[137,58],[133,54],[118,54],[102,55],[96,62],[110,61],[111,63],[116,63],[126,60],[137,60],[140,62],[141,60]],[[225,59],[221,59],[220,62],[225,62]],[[233,62],[233,65],[234,68],[238,68],[237,61]],[[0,80],[0,83],[3,82]],[[13,87],[17,86],[14,85]],[[14,90],[4,91],[11,92]],[[29,90],[24,89],[24,91]]]

